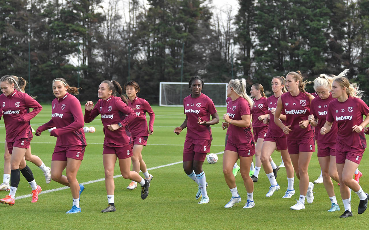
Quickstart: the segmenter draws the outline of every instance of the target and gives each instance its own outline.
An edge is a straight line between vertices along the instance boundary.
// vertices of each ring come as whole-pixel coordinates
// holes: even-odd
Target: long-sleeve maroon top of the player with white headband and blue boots
[[[51,135],[57,137],[55,146],[86,146],[85,132],[83,131],[83,114],[79,100],[72,94],[66,93],[58,100],[51,102],[51,120],[38,127],[40,132],[56,127]]]

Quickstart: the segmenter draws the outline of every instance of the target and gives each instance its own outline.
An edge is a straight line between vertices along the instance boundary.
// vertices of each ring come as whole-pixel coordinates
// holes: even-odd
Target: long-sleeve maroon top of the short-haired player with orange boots
[[[145,99],[136,97],[132,102],[128,100],[128,106],[130,106],[137,115],[128,125],[132,137],[145,137],[149,135],[149,130],[154,131],[155,113]],[[149,130],[147,129],[146,112],[150,116]]]

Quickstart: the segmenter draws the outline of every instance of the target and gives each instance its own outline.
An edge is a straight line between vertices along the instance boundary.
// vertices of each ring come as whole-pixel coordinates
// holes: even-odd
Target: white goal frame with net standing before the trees
[[[215,106],[227,106],[228,83],[207,82],[201,93],[204,93]],[[183,99],[190,95],[191,91],[187,82],[160,82],[159,106],[183,106]]]

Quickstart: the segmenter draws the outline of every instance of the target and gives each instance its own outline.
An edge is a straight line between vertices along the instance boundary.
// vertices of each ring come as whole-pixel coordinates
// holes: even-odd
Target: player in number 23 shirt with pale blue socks
[[[187,176],[199,185],[196,199],[202,197],[198,204],[207,204],[210,199],[206,191],[207,182],[203,171],[203,163],[206,153],[210,152],[211,140],[213,139],[210,125],[218,124],[219,117],[213,101],[204,93],[201,93],[204,81],[197,76],[191,77],[188,86],[191,94],[183,99],[186,119],[173,132],[179,135],[187,127],[186,140],[183,146],[183,170]]]

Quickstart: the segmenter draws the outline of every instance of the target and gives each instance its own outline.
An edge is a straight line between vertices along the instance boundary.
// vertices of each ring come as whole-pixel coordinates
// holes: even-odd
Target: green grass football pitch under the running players
[[[51,106],[44,105],[44,109],[34,119],[31,125],[36,129],[51,118]],[[84,111],[84,106],[82,107]],[[225,113],[225,107],[218,107],[220,117]],[[173,133],[176,126],[184,120],[182,107],[153,106],[155,112],[154,135],[148,139],[148,146],[142,151],[142,156],[148,168],[162,166],[182,161],[183,142],[186,136],[184,130],[179,136]],[[95,133],[87,133],[87,148],[81,167],[77,174],[79,183],[104,178],[102,151],[104,135],[100,117],[97,117],[88,126],[96,128]],[[213,125],[213,142],[211,153],[224,151],[225,131],[220,124]],[[0,121],[0,141],[4,143],[5,128],[3,120]],[[40,137],[34,137],[31,150],[38,155],[47,166],[51,164],[51,155],[55,147],[55,137],[50,137],[45,131]],[[3,149],[3,147],[1,147]],[[1,151],[1,154],[3,151]],[[291,199],[282,199],[287,189],[286,171],[284,168],[278,172],[277,181],[280,190],[266,198],[269,180],[261,170],[259,181],[254,184],[255,207],[242,209],[247,196],[241,175],[236,177],[239,194],[242,202],[231,209],[225,209],[231,198],[231,193],[224,181],[222,171],[223,154],[218,155],[216,164],[204,163],[203,169],[209,184],[208,195],[210,203],[199,205],[195,199],[197,185],[186,176],[182,163],[173,164],[149,170],[154,175],[149,196],[141,200],[140,186],[134,191],[126,189],[130,180],[123,177],[115,178],[115,206],[117,212],[101,213],[107,206],[107,197],[104,181],[85,185],[81,195],[81,213],[67,215],[66,211],[72,206],[72,195],[69,189],[40,194],[37,203],[31,203],[31,197],[17,199],[14,206],[0,205],[2,226],[4,229],[367,229],[369,211],[363,215],[357,214],[359,204],[358,196],[352,192],[351,207],[354,217],[338,218],[344,211],[339,187],[334,182],[335,194],[341,208],[338,212],[329,213],[330,200],[323,184],[314,185],[314,202],[305,205],[304,210],[290,210],[298,199],[299,181],[295,177],[294,188],[296,194]],[[280,163],[280,154],[273,153],[273,160]],[[368,150],[365,151],[360,171],[363,177],[360,184],[363,190],[369,191]],[[45,184],[45,178],[40,169],[28,162],[37,183],[42,190],[52,190],[63,185],[51,181]],[[0,163],[3,172],[3,161]],[[320,174],[320,167],[316,153],[309,167],[310,181]],[[120,175],[118,163],[115,175]],[[142,173],[141,173],[142,175]],[[17,197],[27,195],[31,188],[21,176]],[[1,198],[8,192],[1,191]],[[7,226],[7,227],[5,227]]]

